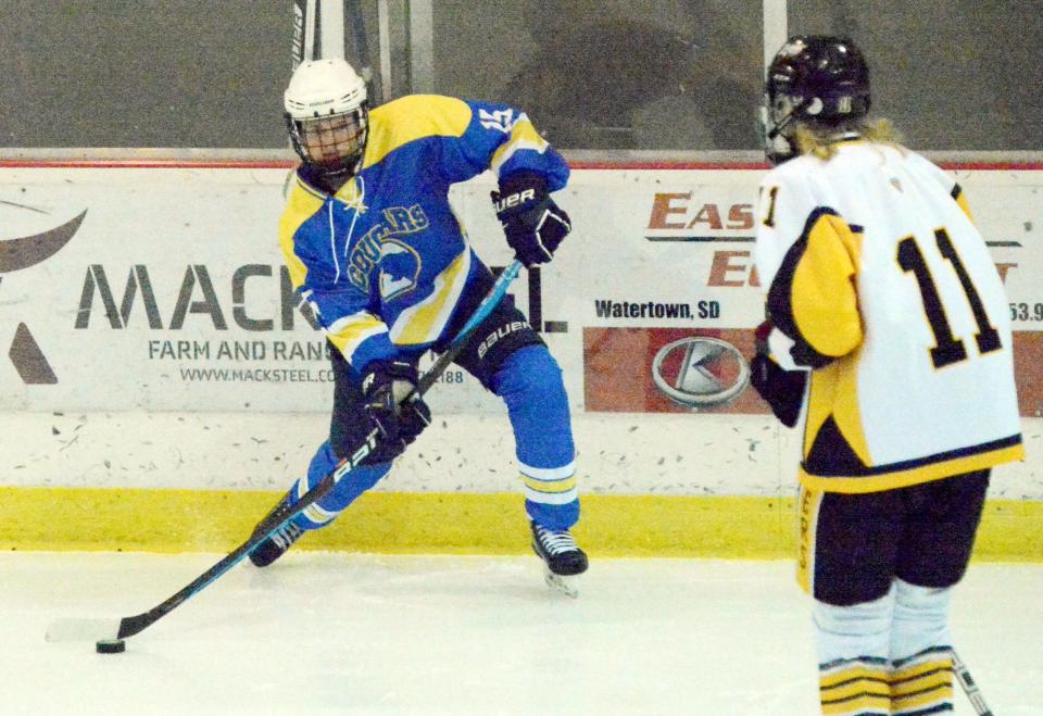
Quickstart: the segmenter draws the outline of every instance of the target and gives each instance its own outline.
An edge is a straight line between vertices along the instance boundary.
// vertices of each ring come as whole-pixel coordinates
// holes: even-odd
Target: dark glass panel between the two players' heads
[[[566,149],[756,149],[759,0],[439,0],[435,88]]]

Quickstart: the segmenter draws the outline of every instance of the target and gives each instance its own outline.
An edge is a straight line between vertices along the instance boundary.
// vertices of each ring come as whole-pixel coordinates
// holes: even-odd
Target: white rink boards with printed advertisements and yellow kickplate
[[[684,375],[690,339],[750,353],[762,173],[580,164],[558,197],[574,235],[512,290],[564,369],[580,533],[595,552],[790,554],[799,436],[752,389],[701,412],[663,389],[699,382]],[[955,174],[1011,301],[1028,448],[995,473],[978,555],[1041,560],[1043,172]],[[224,549],[303,469],[330,385],[322,335],[281,269],[286,177],[281,162],[0,165],[0,548]],[[503,265],[492,186],[457,186],[454,205]],[[694,390],[741,376],[722,366],[709,379]],[[502,406],[456,369],[430,403],[441,419],[350,520],[306,544],[526,549]]]

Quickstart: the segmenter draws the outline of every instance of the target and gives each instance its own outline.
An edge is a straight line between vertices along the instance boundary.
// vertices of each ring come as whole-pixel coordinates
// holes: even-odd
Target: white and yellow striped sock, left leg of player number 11
[[[815,602],[819,701],[824,714],[890,714],[888,646],[894,589],[872,602]]]

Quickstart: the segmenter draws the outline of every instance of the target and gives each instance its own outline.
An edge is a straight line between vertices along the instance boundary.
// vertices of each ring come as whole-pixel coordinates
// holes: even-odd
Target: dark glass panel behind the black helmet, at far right
[[[790,34],[846,35],[866,54],[874,114],[915,149],[1043,146],[1039,2],[791,0]]]

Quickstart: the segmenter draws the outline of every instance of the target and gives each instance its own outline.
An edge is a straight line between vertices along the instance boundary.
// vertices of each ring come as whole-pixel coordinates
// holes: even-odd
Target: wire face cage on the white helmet
[[[354,172],[366,149],[368,108],[351,112],[296,120],[286,115],[293,150],[305,164],[327,174]]]

